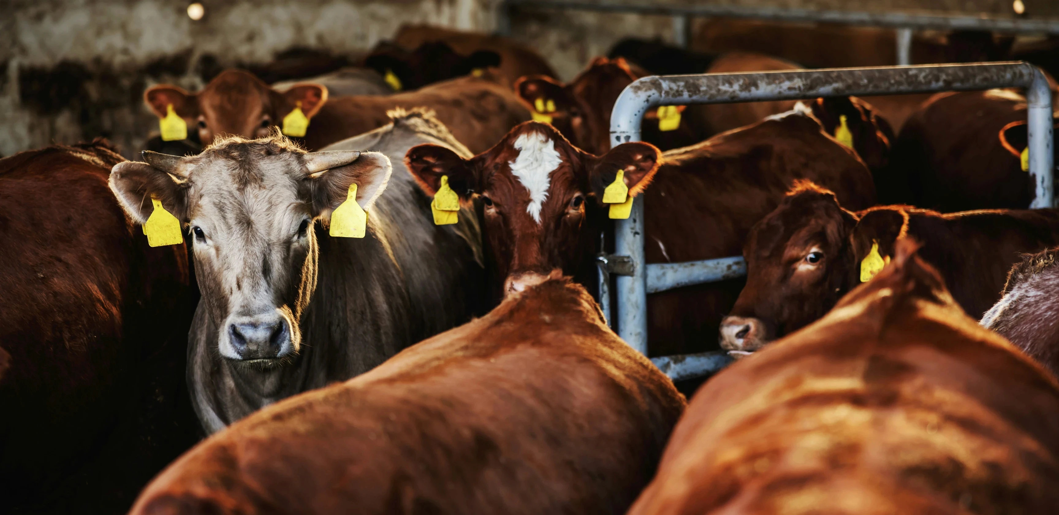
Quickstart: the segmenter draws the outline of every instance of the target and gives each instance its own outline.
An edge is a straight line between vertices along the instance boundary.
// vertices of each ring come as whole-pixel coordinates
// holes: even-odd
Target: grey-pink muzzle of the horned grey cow
[[[277,359],[293,353],[294,350],[290,321],[279,312],[231,317],[226,336],[227,338],[222,338],[220,342],[220,354],[231,359],[244,361]]]

